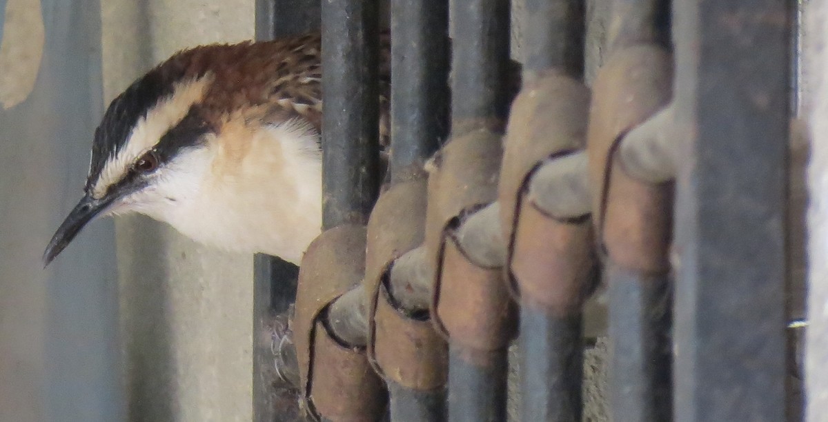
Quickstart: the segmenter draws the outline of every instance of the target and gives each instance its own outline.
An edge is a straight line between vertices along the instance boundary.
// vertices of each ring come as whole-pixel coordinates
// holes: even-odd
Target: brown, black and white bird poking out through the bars
[[[390,34],[379,41],[378,136],[387,146]],[[83,196],[44,265],[90,221],[128,213],[298,265],[322,228],[320,50],[318,32],[197,46],[138,78],[103,113]]]

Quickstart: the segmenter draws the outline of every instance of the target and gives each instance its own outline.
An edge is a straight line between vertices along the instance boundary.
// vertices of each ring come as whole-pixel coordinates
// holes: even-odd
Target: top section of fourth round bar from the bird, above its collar
[[[525,2],[524,79],[552,69],[575,79],[583,76],[585,12],[584,0]]]

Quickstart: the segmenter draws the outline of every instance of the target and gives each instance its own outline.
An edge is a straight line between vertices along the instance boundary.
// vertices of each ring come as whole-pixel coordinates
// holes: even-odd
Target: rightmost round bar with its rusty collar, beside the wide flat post
[[[613,2],[609,60],[596,77],[590,115],[588,148],[590,160],[596,160],[590,166],[598,194],[593,211],[604,249],[611,315],[609,396],[613,419],[619,421],[669,420],[672,414],[666,252],[672,236],[672,190],[631,177],[635,174],[624,166],[630,163],[622,160],[632,157],[657,170],[666,167],[664,178],[671,170],[665,162],[647,160],[646,149],[633,150],[631,156],[618,154],[624,141],[631,141],[629,149],[638,140],[638,146],[648,144],[669,156],[672,140],[650,132],[661,133],[666,126],[666,114],[656,112],[670,98],[670,3]],[[641,128],[639,122],[647,117],[647,126]],[[633,137],[619,145],[616,140],[627,130]],[[643,173],[647,170],[652,169],[645,167]]]

